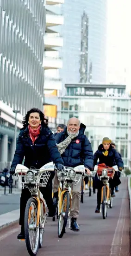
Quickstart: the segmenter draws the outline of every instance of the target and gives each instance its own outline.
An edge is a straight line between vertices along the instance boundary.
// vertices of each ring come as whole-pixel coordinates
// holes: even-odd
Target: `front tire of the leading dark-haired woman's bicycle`
[[[35,249],[33,250],[31,248],[31,243],[30,243],[30,235],[29,235],[29,213],[30,213],[30,207],[31,207],[31,204],[36,208],[36,213],[37,213],[37,201],[31,197],[28,201],[27,201],[27,204],[26,204],[26,207],[25,207],[25,243],[26,243],[26,247],[27,247],[27,250],[28,250],[28,253],[31,255],[31,256],[36,256],[37,255],[37,251],[39,249],[39,227],[37,229],[37,242],[36,242],[36,246],[35,246]],[[36,217],[37,217],[37,214],[36,214]],[[33,219],[34,219],[34,216],[33,216]]]

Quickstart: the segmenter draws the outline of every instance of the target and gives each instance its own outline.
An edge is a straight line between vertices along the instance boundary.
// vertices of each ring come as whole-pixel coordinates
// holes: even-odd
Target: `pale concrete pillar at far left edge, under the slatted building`
[[[8,161],[8,135],[3,135],[1,140],[1,162]]]

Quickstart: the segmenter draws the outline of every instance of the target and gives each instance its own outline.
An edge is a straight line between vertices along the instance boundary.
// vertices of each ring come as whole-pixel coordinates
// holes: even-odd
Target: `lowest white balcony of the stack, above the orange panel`
[[[62,89],[62,80],[45,76],[44,90],[49,90],[49,89],[50,90],[61,90]]]

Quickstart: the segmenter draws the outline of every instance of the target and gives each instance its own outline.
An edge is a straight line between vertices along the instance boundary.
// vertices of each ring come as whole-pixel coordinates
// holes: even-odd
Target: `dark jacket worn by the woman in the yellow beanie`
[[[110,145],[110,148],[108,149],[109,153],[107,156],[103,155],[103,151],[105,151],[103,144],[100,144],[98,150],[94,153],[94,166],[97,164],[97,160],[99,159],[99,163],[105,163],[109,167],[117,165],[118,167],[123,168],[122,159],[116,149],[112,147],[112,145]]]

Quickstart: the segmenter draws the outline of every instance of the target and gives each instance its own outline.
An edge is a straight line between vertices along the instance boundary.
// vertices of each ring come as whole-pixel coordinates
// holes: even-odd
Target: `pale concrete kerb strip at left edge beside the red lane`
[[[19,209],[0,215],[0,230],[19,222]]]

